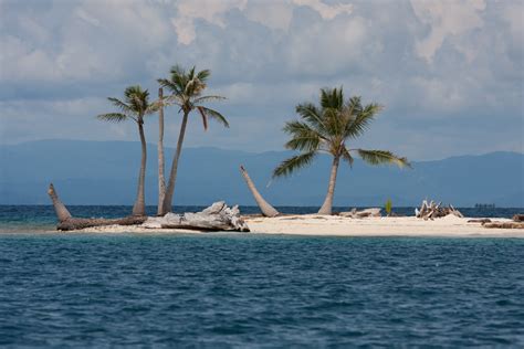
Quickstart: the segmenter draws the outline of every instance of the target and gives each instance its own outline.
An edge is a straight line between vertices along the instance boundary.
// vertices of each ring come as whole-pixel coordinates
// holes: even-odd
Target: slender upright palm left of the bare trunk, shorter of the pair
[[[107,98],[119,109],[117,113],[107,113],[98,115],[98,119],[104,121],[120,123],[127,119],[134,120],[138,125],[138,134],[142,142],[142,161],[138,173],[138,192],[135,204],[133,205],[133,215],[146,215],[145,189],[147,148],[146,137],[144,135],[144,116],[153,114],[159,109],[161,101],[149,103],[149,92],[142,89],[140,86],[129,86],[124,92],[124,101],[118,98]]]

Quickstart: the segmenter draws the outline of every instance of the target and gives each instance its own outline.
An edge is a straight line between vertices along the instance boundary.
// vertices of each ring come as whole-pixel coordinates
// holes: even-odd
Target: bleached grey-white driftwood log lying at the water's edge
[[[240,216],[238,205],[229,208],[226,202],[214,202],[197,213],[167,213],[164,216],[149,216],[140,225],[147,229],[189,229],[198,231],[249,232],[249,226]]]

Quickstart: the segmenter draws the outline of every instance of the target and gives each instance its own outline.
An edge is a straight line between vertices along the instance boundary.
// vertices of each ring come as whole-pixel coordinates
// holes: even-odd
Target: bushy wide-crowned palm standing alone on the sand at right
[[[296,113],[302,120],[289,121],[284,131],[291,135],[285,144],[287,149],[298,150],[300,155],[282,161],[273,171],[273,178],[289,176],[305,167],[319,152],[333,156],[332,171],[327,194],[318,214],[332,214],[333,195],[335,193],[336,176],[340,159],[353,166],[353,155],[356,152],[365,162],[370,165],[395,163],[399,167],[410,166],[406,158],[399,158],[387,150],[365,150],[348,148],[346,142],[364,134],[374,120],[381,106],[371,103],[361,105],[360,97],[344,101],[343,88],[322,88],[321,105],[303,103],[296,106]]]

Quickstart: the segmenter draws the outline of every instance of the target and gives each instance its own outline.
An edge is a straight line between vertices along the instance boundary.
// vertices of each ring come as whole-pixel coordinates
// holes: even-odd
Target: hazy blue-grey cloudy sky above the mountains
[[[0,0],[0,142],[135,140],[133,124],[95,116],[128,85],[155,95],[180,63],[212,71],[231,124],[195,118],[187,146],[282,149],[294,106],[344,85],[386,107],[357,146],[523,151],[523,17],[520,0]]]

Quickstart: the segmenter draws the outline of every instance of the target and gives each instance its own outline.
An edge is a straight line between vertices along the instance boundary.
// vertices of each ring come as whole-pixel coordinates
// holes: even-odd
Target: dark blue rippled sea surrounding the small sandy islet
[[[0,347],[524,347],[521,239],[43,232],[53,224],[52,208],[0,207]]]

